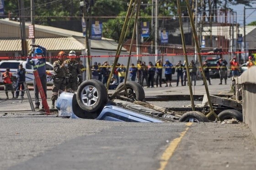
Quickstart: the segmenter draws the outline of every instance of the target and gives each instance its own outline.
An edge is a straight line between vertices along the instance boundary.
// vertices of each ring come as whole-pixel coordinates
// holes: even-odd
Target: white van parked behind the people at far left
[[[22,64],[23,68],[26,69],[26,82],[27,84],[33,84],[34,74],[33,74],[33,67],[29,64],[26,64],[26,61],[22,60],[5,60],[0,62],[0,84],[3,83],[2,73],[5,72],[6,68],[10,68],[10,72],[13,76],[12,86],[16,88],[17,83],[17,69],[19,65]],[[50,62],[46,62],[46,74],[47,74],[47,85],[53,85],[53,80],[50,80],[51,77],[54,75],[53,73],[53,65]]]

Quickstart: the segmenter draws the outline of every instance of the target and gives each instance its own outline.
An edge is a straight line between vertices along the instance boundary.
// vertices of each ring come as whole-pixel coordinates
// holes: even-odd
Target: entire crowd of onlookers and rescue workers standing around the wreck
[[[46,78],[46,59],[44,56],[46,56],[46,49],[43,46],[39,45],[31,45],[33,47],[36,47],[34,54],[35,58],[32,57],[33,51],[30,51],[28,53],[27,58],[27,64],[32,65],[34,70],[37,70],[43,90],[45,93],[45,96],[47,96],[47,78]],[[82,73],[85,70],[85,67],[82,65],[82,62],[77,62],[75,60],[76,53],[75,51],[70,51],[68,55],[68,59],[66,58],[66,53],[61,51],[58,54],[58,60],[53,62],[53,71],[55,73],[53,77],[53,94],[51,97],[52,100],[52,107],[55,107],[55,100],[58,98],[59,94],[66,91],[66,92],[75,92],[78,88],[78,86],[83,82],[82,80]],[[236,57],[233,57],[230,60],[231,65],[231,72],[232,76],[238,76],[239,75],[239,63],[236,61]],[[220,83],[227,84],[227,64],[228,62],[220,58],[217,62],[218,64],[218,70],[220,75]],[[251,67],[254,65],[254,62],[252,61],[252,57],[249,57],[249,60],[247,62],[247,67]],[[105,86],[107,86],[107,81],[110,78],[111,69],[114,69],[113,75],[110,78],[110,85],[109,89],[115,89],[117,88],[119,83],[122,83],[124,81],[125,75],[128,72],[130,80],[136,81],[136,78],[142,86],[146,85],[147,88],[154,88],[156,87],[162,87],[162,84],[165,83],[165,87],[171,87],[172,82],[172,75],[177,73],[177,79],[176,79],[176,86],[179,86],[179,82],[181,82],[181,86],[187,85],[187,77],[188,74],[191,77],[192,85],[196,86],[197,81],[197,67],[193,60],[189,63],[189,69],[187,72],[186,69],[186,61],[181,63],[181,61],[177,62],[176,65],[173,65],[168,59],[165,60],[165,63],[163,63],[161,60],[158,60],[155,64],[153,62],[149,62],[148,65],[145,62],[138,61],[137,65],[134,65],[133,63],[129,67],[129,70],[126,69],[126,66],[123,64],[117,63],[117,66],[113,68],[113,66],[110,66],[109,63],[103,62],[97,63],[94,62],[94,64],[91,66],[92,71],[92,79],[96,79],[101,81]],[[208,80],[209,85],[211,85],[210,80],[210,74],[209,74],[209,64],[206,60],[203,63],[203,69],[200,68],[200,72],[203,72],[205,74],[206,80]],[[12,87],[12,73],[10,72],[9,68],[6,68],[6,71],[2,75],[2,79],[5,83],[5,93],[7,96],[7,99],[9,99],[8,91],[11,91],[12,98],[18,98],[20,88],[21,88],[21,98],[23,98],[24,95],[24,85],[23,82],[25,82],[26,79],[26,70],[22,67],[22,65],[19,65],[19,68],[17,69],[17,85],[16,85],[16,93]],[[165,78],[162,78],[162,75],[165,75]],[[145,83],[144,84],[144,80]],[[203,84],[204,85],[204,84]],[[35,108],[39,108],[40,102],[38,97],[38,87],[37,82],[34,80],[34,94],[35,94]]]

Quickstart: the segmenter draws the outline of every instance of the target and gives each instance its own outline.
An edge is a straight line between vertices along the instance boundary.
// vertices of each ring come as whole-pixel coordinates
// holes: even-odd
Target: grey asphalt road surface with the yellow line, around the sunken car
[[[178,88],[184,93],[187,89],[173,89]],[[154,88],[154,93],[157,89],[162,90]],[[146,95],[150,90],[145,90]],[[150,103],[181,107],[190,101]],[[256,166],[256,139],[243,123],[110,122],[29,110],[26,98],[22,103],[20,99],[0,103],[0,170],[252,170]]]

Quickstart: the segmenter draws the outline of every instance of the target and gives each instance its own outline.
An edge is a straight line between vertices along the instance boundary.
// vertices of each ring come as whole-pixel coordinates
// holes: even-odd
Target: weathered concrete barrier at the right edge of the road
[[[256,136],[256,66],[237,77],[236,84],[242,85],[243,122]]]

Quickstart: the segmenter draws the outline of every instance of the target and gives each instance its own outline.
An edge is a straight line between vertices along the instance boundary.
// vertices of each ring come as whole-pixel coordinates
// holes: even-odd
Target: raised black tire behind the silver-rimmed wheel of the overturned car
[[[119,88],[123,87],[124,82],[121,82],[116,90],[118,90]],[[134,81],[127,81],[126,82],[126,88],[128,90],[128,98],[134,97],[139,101],[144,101],[145,99],[145,92],[143,87],[138,83],[138,82],[134,82]],[[124,93],[124,90],[122,90],[120,93],[123,93],[123,96],[127,97]]]

